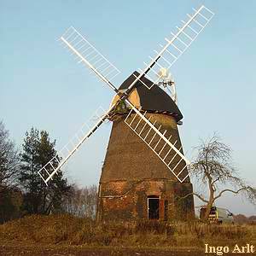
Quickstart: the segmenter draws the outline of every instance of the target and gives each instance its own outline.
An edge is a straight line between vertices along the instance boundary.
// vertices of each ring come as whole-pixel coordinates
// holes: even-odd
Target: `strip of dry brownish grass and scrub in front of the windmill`
[[[191,250],[202,253],[205,243],[211,246],[233,246],[236,243],[256,245],[256,226],[208,225],[200,222],[96,224],[89,219],[74,218],[69,215],[32,215],[0,225],[2,252],[4,252],[4,248],[11,248],[15,245],[15,247],[25,247],[27,250],[38,247],[51,247],[53,250],[75,248],[77,254],[70,253],[71,255],[87,255],[79,254],[78,248],[86,248],[89,251],[97,248],[98,252],[108,248],[108,253],[113,251],[112,255],[115,255],[114,252],[119,252],[117,255],[122,255],[122,253],[120,254],[122,250],[128,250],[124,255],[130,255],[129,250],[134,251],[132,248],[148,249],[153,253],[148,255],[154,255],[154,250],[157,248],[160,251],[155,255],[161,255],[161,251],[165,253],[166,250],[171,252],[179,248],[182,253],[180,255],[186,255],[184,253]],[[41,255],[35,252],[32,254]],[[46,251],[44,251],[44,255],[48,255]],[[54,253],[49,253],[49,255],[54,255]],[[66,254],[62,253],[61,255]],[[93,253],[88,255],[93,255]]]

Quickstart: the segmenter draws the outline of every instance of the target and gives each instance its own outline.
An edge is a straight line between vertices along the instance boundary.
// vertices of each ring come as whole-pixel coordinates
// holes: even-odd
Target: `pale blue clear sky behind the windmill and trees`
[[[0,0],[0,119],[21,145],[32,126],[49,131],[61,148],[113,92],[73,61],[57,38],[76,27],[121,70],[116,84],[143,67],[192,8],[205,4],[211,23],[172,67],[185,151],[217,131],[233,148],[241,176],[255,175],[255,1],[13,1]],[[105,124],[65,171],[80,185],[97,183],[111,124]],[[228,195],[235,213],[255,207]]]

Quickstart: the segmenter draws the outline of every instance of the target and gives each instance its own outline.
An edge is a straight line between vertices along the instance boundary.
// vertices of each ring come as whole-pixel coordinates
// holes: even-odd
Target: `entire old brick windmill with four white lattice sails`
[[[213,13],[201,6],[187,16],[183,26],[171,33],[172,38],[165,38],[166,44],[160,44],[154,57],[144,62],[145,67],[132,73],[119,88],[113,84],[119,69],[73,26],[60,38],[78,62],[89,67],[116,95],[108,111],[98,115],[96,124],[83,125],[38,174],[47,184],[105,120],[113,121],[99,184],[98,220],[170,219],[194,214],[192,196],[182,206],[177,203],[178,196],[193,188],[189,180],[191,164],[183,154],[177,130],[183,115],[177,108],[169,69],[207,26]],[[168,86],[172,87],[169,94],[165,91]]]

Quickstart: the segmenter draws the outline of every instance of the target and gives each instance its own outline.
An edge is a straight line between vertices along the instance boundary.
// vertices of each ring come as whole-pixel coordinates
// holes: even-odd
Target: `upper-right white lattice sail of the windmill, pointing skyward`
[[[182,27],[176,26],[177,32],[171,33],[171,39],[165,38],[166,45],[160,44],[160,50],[154,50],[156,55],[154,57],[149,56],[150,61],[148,63],[143,62],[146,67],[138,69],[140,75],[137,80],[143,83],[141,78],[146,76],[154,82],[150,87],[148,87],[148,84],[143,83],[148,89],[151,89],[154,84],[158,84],[162,79],[159,70],[162,68],[169,70],[177,59],[183,55],[183,52],[189,48],[190,44],[195,41],[195,38],[198,37],[214,15],[210,9],[203,5],[200,9],[194,9],[194,11],[193,15],[187,14],[189,20],[182,20]]]

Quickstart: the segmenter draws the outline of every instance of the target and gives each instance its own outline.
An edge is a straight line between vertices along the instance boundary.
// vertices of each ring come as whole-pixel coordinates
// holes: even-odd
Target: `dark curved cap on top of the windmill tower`
[[[120,85],[119,90],[126,90],[130,84],[139,76],[139,73],[135,71],[131,76],[126,79],[123,84]],[[143,83],[147,84],[150,87],[154,84],[149,79],[143,77]],[[178,122],[180,119],[183,119],[183,114],[177,108],[175,102],[172,101],[171,96],[169,96],[165,90],[162,90],[158,85],[154,84],[150,90],[143,85],[140,81],[134,86],[134,90],[131,91],[129,100],[137,108],[141,108],[148,112],[154,113],[166,113],[172,115]],[[114,100],[113,100],[114,101]]]

